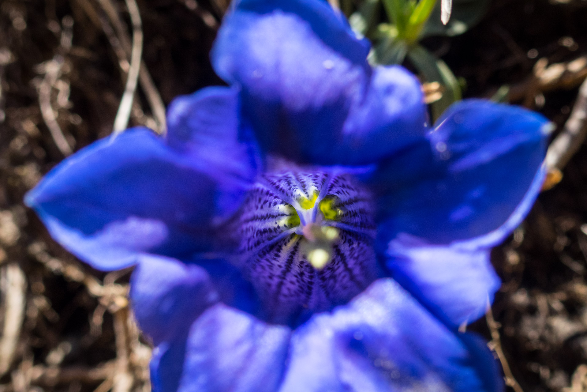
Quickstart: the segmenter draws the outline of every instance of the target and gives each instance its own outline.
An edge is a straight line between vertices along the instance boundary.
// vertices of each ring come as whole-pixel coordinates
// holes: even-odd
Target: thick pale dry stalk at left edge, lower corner
[[[9,370],[21,334],[26,305],[26,278],[16,263],[3,268],[4,328],[0,339],[0,376]]]

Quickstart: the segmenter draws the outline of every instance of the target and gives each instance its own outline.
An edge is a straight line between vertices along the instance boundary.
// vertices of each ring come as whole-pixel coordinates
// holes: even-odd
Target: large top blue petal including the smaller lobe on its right
[[[400,66],[371,69],[343,19],[319,0],[242,0],[225,17],[212,63],[242,88],[263,149],[366,165],[423,137],[420,83]]]

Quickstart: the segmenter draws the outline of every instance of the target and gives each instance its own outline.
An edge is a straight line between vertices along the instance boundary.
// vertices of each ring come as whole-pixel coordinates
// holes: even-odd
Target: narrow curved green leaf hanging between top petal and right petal
[[[430,104],[433,120],[436,120],[448,106],[461,99],[461,87],[457,78],[444,61],[434,58],[421,45],[410,48],[407,55],[426,82],[438,82],[444,88],[442,98]]]

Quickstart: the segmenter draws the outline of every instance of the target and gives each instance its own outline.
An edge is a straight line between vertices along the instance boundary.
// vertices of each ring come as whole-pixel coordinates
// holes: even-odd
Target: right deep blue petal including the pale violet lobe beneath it
[[[480,317],[500,286],[489,249],[541,189],[547,130],[538,113],[465,100],[426,143],[367,180],[379,197],[379,252],[399,282],[453,326]]]

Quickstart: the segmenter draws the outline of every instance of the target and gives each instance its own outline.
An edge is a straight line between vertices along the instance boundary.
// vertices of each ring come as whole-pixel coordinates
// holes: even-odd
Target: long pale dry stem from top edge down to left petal
[[[129,124],[130,109],[133,106],[134,94],[137,89],[141,55],[143,53],[143,28],[141,26],[139,7],[134,0],[126,0],[126,6],[129,9],[130,21],[133,24],[133,49],[130,55],[130,69],[126,80],[126,87],[124,88],[122,99],[120,99],[116,119],[114,119],[114,135],[122,132]]]

